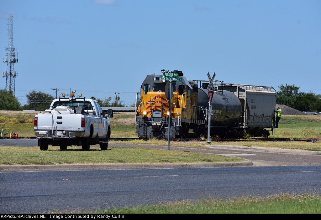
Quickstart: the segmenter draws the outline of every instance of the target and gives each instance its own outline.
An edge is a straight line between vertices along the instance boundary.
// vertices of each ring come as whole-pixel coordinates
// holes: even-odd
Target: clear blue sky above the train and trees
[[[130,105],[145,76],[160,69],[321,93],[320,0],[2,1],[1,58],[9,14],[22,104],[33,89],[55,95],[59,88],[97,98],[120,92]]]

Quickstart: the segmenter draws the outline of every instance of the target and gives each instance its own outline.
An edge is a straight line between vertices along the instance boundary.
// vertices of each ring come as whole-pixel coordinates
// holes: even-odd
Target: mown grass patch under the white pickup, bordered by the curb
[[[82,151],[80,147],[68,147],[66,151],[59,147],[48,147],[40,151],[39,147],[0,147],[0,165],[40,165],[40,164],[86,164],[86,163],[195,163],[195,162],[236,162],[241,158],[215,154],[167,151],[165,149],[111,147],[100,151],[91,147]]]

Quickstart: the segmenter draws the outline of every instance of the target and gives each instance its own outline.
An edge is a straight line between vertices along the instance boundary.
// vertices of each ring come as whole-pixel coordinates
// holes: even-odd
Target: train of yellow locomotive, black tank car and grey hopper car
[[[175,73],[172,81],[170,127],[169,100],[164,72]],[[212,113],[209,106],[209,81],[189,80],[181,71],[162,70],[162,75],[147,75],[136,96],[135,125],[139,138],[207,136],[207,120],[211,120],[211,136],[242,137],[270,135],[274,132],[275,89],[271,86],[250,86],[214,82]],[[266,129],[270,128],[270,129]]]

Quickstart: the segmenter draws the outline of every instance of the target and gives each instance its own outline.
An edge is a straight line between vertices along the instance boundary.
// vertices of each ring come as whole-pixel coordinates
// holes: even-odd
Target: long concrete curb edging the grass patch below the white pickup
[[[108,169],[153,169],[192,167],[247,167],[252,161],[218,163],[168,163],[168,164],[59,164],[59,165],[4,165],[0,172],[59,171],[59,170],[108,170]]]

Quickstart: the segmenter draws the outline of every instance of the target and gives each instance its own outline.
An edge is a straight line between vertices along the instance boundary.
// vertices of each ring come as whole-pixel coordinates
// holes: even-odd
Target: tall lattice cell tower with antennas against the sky
[[[16,48],[13,47],[13,14],[9,15],[9,23],[8,23],[8,31],[9,31],[9,43],[8,47],[5,48],[7,53],[5,54],[6,57],[3,58],[3,61],[7,63],[7,71],[2,72],[2,77],[6,77],[5,79],[5,89],[9,91],[13,91],[15,95],[14,89],[14,78],[17,76],[17,73],[14,71],[14,63],[18,62],[18,53],[17,58],[15,57]]]

